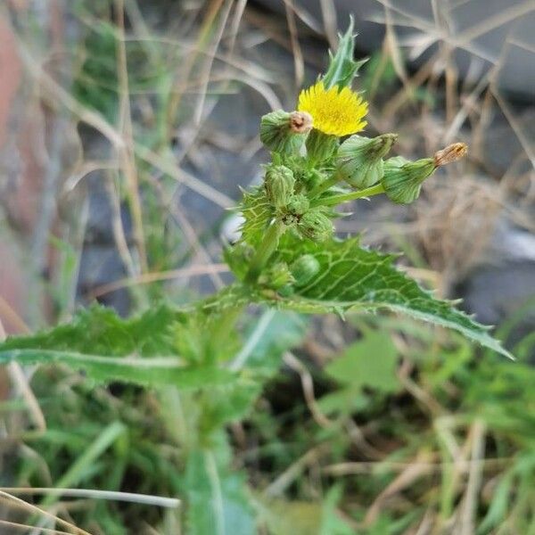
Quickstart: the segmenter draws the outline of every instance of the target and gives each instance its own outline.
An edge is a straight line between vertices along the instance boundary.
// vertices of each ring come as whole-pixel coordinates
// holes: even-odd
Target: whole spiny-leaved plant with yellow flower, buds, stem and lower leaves
[[[377,194],[414,202],[424,180],[466,152],[465,144],[452,144],[432,158],[407,161],[387,158],[394,134],[358,136],[367,103],[351,89],[362,64],[354,62],[353,47],[350,27],[325,75],[300,94],[297,111],[261,119],[260,138],[271,161],[263,184],[243,194],[242,237],[225,251],[234,284],[191,306],[161,303],[129,319],[94,306],[68,325],[0,344],[0,363],[58,362],[100,383],[175,386],[181,399],[170,403],[171,419],[185,459],[188,532],[252,532],[243,477],[228,467],[224,425],[247,413],[284,350],[300,341],[302,320],[289,311],[403,312],[509,356],[488,327],[399,271],[393,255],[362,247],[358,237],[334,235],[333,221],[343,216],[337,206]],[[243,344],[235,327],[251,304],[268,312]],[[281,325],[276,335],[264,336],[276,321],[286,325],[287,339]],[[342,376],[348,363],[333,365],[333,376]],[[377,366],[378,373],[389,366]]]

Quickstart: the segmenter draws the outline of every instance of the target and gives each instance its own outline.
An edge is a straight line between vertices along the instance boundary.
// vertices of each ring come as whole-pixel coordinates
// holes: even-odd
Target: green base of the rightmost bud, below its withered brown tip
[[[401,156],[384,162],[384,175],[381,183],[384,193],[393,202],[409,204],[420,195],[425,178],[430,177],[436,169],[432,158],[407,161]]]

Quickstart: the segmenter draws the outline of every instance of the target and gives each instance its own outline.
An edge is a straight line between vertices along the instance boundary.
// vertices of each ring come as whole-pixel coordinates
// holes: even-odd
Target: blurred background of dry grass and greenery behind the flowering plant
[[[266,160],[259,117],[292,110],[325,67],[348,22],[342,4],[4,1],[0,336],[95,300],[127,315],[231,280],[221,263],[236,228],[227,209]],[[532,65],[535,43],[515,24],[535,8],[488,7],[457,32],[458,10],[480,2],[372,4],[357,21],[370,58],[358,78],[368,135],[399,132],[397,149],[414,157],[456,140],[470,153],[410,208],[361,202],[338,230],[403,252],[410,275],[498,325],[517,361],[395,316],[251,310],[243,333],[265,385],[252,410],[221,392],[212,415],[231,443],[213,446],[232,466],[215,474],[226,525],[532,534],[535,106],[511,70]],[[478,40],[497,29],[498,50]],[[185,471],[188,402],[171,388],[103,388],[61,366],[6,366],[0,532],[209,535],[210,460]]]

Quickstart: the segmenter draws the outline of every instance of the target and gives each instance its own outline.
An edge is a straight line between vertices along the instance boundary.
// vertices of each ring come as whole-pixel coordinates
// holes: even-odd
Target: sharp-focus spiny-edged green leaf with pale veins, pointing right
[[[449,327],[467,338],[512,358],[492,338],[489,327],[481,325],[447,300],[437,300],[416,281],[393,266],[394,255],[363,249],[358,238],[332,239],[323,243],[300,240],[286,233],[272,261],[292,264],[304,254],[319,263],[317,276],[306,286],[296,288],[289,297],[259,292],[259,300],[279,309],[307,313],[343,312],[350,309],[389,309]]]

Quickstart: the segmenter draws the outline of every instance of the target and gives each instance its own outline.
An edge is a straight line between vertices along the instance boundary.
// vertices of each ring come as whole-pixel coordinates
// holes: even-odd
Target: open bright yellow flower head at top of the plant
[[[299,111],[307,111],[314,119],[314,128],[332,136],[349,136],[366,127],[362,120],[367,103],[349,87],[325,89],[323,82],[303,89],[299,95]]]

